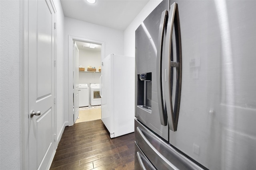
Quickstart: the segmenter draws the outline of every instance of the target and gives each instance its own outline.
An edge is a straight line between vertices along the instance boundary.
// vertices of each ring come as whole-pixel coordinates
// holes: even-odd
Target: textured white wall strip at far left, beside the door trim
[[[0,0],[0,169],[21,169],[22,2]]]

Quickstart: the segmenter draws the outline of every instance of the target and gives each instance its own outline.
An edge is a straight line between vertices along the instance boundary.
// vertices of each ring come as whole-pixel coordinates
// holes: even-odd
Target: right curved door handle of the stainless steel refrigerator
[[[175,25],[175,28],[174,28]],[[173,60],[173,45],[172,45],[172,33],[175,31],[175,43],[176,43],[176,62]],[[180,18],[178,12],[178,4],[175,2],[170,7],[170,14],[168,18],[167,31],[166,31],[166,53],[165,61],[168,61],[167,66],[167,81],[165,83],[166,90],[166,110],[168,115],[169,129],[171,131],[177,131],[178,117],[180,111],[180,98],[181,98],[181,81],[182,81],[182,51],[181,51],[181,34],[180,34]],[[172,67],[172,68],[171,68]],[[175,100],[174,108],[172,105],[172,84],[174,72],[176,68],[176,87],[175,87]]]

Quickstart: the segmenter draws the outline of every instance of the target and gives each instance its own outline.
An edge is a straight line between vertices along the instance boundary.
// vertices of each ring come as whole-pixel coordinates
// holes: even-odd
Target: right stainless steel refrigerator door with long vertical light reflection
[[[169,141],[211,170],[255,169],[256,1],[174,2],[182,90]]]

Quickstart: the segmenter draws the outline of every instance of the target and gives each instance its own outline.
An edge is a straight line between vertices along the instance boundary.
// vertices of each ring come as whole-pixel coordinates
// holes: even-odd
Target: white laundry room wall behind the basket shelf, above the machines
[[[101,64],[101,52],[90,49],[79,49],[79,65],[85,67],[85,72],[79,72],[79,84],[100,83],[99,67]],[[96,72],[86,72],[87,67],[96,68]]]

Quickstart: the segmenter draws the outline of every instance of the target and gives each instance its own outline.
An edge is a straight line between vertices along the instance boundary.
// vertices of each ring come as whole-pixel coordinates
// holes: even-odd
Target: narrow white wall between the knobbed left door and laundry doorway
[[[68,111],[64,109],[66,105],[64,100],[64,94],[66,93],[66,85],[64,82],[64,14],[60,0],[54,0],[56,8],[56,33],[57,33],[57,49],[56,49],[56,130],[57,130],[57,141],[60,140],[62,130],[65,127],[65,115]]]

